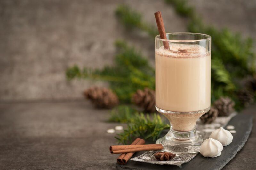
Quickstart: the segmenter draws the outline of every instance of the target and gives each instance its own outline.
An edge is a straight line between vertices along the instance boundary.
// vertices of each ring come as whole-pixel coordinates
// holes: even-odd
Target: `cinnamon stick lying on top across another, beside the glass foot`
[[[161,150],[161,149],[163,149],[162,144],[121,145],[121,146],[110,146],[109,151],[112,154],[118,154],[118,153],[129,153],[129,152]]]

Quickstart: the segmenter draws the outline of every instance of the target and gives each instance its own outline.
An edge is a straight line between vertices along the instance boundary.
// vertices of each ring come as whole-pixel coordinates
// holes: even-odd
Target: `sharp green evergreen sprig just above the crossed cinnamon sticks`
[[[135,113],[131,122],[128,123],[124,132],[117,134],[115,137],[119,143],[127,144],[135,138],[143,138],[155,141],[164,129],[169,129],[170,125],[165,124],[159,114]]]

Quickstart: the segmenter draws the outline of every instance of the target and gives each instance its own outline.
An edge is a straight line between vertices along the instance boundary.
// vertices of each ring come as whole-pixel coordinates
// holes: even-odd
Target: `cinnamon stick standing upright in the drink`
[[[162,14],[161,14],[160,11],[155,12],[155,18],[156,18],[156,25],[157,25],[157,28],[158,28],[160,38],[161,39],[167,39]],[[168,41],[163,41],[163,44],[164,44],[164,48],[166,50],[170,50],[170,46],[169,46]]]

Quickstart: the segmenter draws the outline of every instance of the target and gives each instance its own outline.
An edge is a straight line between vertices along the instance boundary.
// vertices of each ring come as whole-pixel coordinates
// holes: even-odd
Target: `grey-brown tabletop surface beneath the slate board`
[[[255,115],[255,108],[241,114]],[[108,148],[116,134],[106,130],[119,124],[106,122],[108,112],[85,102],[1,103],[0,169],[115,169],[117,155]],[[248,141],[223,169],[254,169],[255,142],[254,121]]]

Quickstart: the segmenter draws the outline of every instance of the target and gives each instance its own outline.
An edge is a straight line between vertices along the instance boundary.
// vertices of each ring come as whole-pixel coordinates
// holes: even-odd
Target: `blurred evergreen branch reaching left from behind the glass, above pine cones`
[[[83,78],[107,81],[119,100],[129,103],[132,94],[138,89],[155,89],[155,69],[133,46],[128,46],[120,40],[116,41],[115,45],[118,53],[113,66],[105,66],[103,69],[80,69],[75,65],[67,69],[66,76],[68,80]]]

